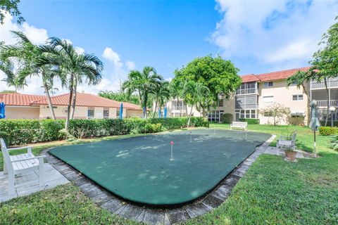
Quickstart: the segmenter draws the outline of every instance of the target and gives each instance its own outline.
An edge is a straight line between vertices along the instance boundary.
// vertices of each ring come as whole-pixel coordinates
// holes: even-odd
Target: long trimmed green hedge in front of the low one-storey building
[[[187,127],[187,117],[166,119],[139,118],[108,120],[70,120],[69,133],[76,138],[141,134]],[[192,127],[208,127],[208,121],[192,117]],[[65,127],[65,120],[0,120],[0,137],[8,146],[23,145],[65,139],[59,131]]]

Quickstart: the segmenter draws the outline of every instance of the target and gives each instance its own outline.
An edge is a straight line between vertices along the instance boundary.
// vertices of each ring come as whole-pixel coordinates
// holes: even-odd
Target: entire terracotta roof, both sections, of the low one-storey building
[[[51,97],[53,105],[68,105],[69,94]],[[6,105],[30,106],[30,105],[47,105],[46,96],[37,96],[30,94],[8,93],[0,94],[0,102]],[[107,98],[102,98],[94,94],[77,93],[76,105],[87,107],[106,107],[120,108],[120,102]],[[142,110],[139,105],[123,102],[123,108],[130,110]]]

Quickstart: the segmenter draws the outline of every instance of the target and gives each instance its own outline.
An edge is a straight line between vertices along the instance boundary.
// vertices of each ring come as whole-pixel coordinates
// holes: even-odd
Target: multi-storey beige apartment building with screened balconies
[[[292,70],[283,70],[277,72],[268,72],[260,75],[243,75],[242,84],[237,89],[236,93],[230,99],[220,99],[218,106],[212,108],[208,112],[208,120],[211,122],[220,122],[220,118],[224,113],[231,113],[234,120],[240,119],[259,119],[261,124],[272,124],[273,118],[267,115],[262,115],[260,111],[263,108],[272,105],[273,103],[280,103],[288,107],[291,111],[289,117],[303,117],[303,124],[308,124],[308,105],[311,99],[321,100],[318,105],[325,105],[326,95],[323,93],[323,84],[320,90],[313,89],[316,82],[305,84],[306,90],[302,87],[298,88],[295,85],[287,86],[286,79],[298,70],[308,70],[308,68],[297,68]],[[337,89],[332,89],[332,99],[338,99],[338,80]],[[333,81],[332,81],[333,85]],[[337,98],[336,98],[337,97]],[[323,99],[323,100],[322,100]],[[336,101],[336,105],[338,100]],[[332,104],[334,100],[332,100]],[[182,101],[174,100],[166,103],[168,116],[184,116],[187,115],[185,108],[190,106],[184,105]],[[201,116],[201,113],[193,108],[194,116]],[[287,117],[280,121],[280,124],[288,124]]]

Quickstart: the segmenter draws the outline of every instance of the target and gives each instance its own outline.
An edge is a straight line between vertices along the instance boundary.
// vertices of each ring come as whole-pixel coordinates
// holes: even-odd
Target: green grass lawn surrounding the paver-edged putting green
[[[213,127],[214,124],[211,124]],[[228,125],[216,124],[218,128]],[[298,131],[297,147],[312,151],[313,133]],[[287,126],[249,125],[249,131],[284,134]],[[338,153],[330,138],[318,136],[312,160],[286,162],[261,155],[218,209],[186,224],[337,224]],[[272,143],[272,145],[274,145]],[[46,148],[39,146],[35,153]],[[96,207],[72,184],[0,204],[0,224],[135,224]]]

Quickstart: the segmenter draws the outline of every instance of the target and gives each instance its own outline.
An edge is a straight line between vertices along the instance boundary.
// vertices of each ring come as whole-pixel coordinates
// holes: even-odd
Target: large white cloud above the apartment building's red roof
[[[306,65],[338,14],[338,1],[217,3],[223,19],[210,41],[225,57],[251,57],[270,67]]]

